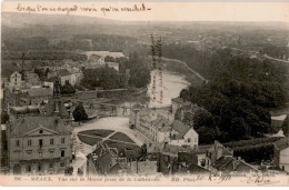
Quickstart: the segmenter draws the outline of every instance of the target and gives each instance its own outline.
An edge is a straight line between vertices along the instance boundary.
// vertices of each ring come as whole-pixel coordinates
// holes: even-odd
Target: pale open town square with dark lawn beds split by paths
[[[118,150],[127,149],[139,152],[143,143],[150,141],[140,132],[129,128],[129,119],[120,117],[108,117],[92,120],[79,127],[74,127],[72,136],[76,137],[73,147],[77,148],[76,159],[72,162],[73,171],[81,168],[86,173],[87,154],[96,149],[100,141]]]

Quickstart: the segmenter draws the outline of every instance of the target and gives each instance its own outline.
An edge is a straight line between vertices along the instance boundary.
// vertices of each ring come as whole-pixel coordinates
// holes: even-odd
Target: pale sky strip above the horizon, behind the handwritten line
[[[144,11],[120,11],[123,8],[146,7]],[[61,10],[76,8],[69,14],[107,18],[122,21],[278,21],[289,22],[289,2],[76,2],[76,1],[4,1],[3,12],[67,14],[64,11],[39,11],[38,8]],[[81,10],[82,8],[82,10]],[[92,8],[97,11],[83,11]],[[103,11],[103,8],[110,11]],[[119,11],[111,11],[117,8]],[[150,9],[150,10],[148,10]],[[40,18],[41,19],[41,18]]]

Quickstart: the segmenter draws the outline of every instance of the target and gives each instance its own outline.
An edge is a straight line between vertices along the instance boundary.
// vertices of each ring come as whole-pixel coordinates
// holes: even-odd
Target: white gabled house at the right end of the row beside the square
[[[171,124],[170,144],[197,147],[199,144],[199,134],[190,126],[175,120]]]

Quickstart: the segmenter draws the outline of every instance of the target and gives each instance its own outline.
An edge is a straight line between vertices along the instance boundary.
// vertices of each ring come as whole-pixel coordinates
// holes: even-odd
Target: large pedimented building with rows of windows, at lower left
[[[58,117],[23,117],[7,128],[10,172],[59,173],[72,159],[71,127]]]

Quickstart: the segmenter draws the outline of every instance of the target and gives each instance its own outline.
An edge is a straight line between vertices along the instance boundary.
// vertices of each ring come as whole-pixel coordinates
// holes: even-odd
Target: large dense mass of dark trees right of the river
[[[197,132],[203,132],[201,142],[212,142],[213,138],[227,142],[262,137],[270,131],[269,110],[286,100],[282,67],[232,57],[227,50],[220,53],[211,62],[212,80],[180,93],[208,111],[195,118]]]

